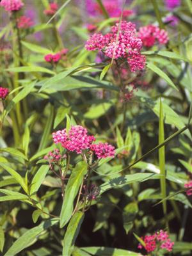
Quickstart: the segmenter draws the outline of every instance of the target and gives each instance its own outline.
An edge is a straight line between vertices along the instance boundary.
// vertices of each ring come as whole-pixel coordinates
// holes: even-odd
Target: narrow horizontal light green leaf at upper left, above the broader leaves
[[[48,68],[38,67],[38,66],[26,66],[26,67],[14,67],[14,68],[7,68],[7,71],[10,72],[42,72],[47,74],[54,75],[55,72],[49,70]]]

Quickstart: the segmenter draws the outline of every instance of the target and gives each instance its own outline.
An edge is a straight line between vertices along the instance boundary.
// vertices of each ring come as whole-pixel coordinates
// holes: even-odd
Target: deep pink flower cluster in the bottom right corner
[[[158,249],[165,249],[168,252],[171,252],[174,245],[174,242],[172,242],[168,236],[168,232],[163,230],[160,230],[153,235],[141,237],[141,239],[145,243],[145,246],[139,244],[138,248],[142,249],[144,247],[148,253]]]

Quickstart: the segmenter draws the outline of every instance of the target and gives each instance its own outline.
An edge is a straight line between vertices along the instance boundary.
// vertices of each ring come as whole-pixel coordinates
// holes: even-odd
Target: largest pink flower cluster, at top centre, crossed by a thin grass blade
[[[119,26],[120,25],[120,26]],[[120,31],[118,28],[120,27]],[[111,27],[111,33],[102,35],[95,33],[86,42],[85,48],[88,51],[99,50],[109,58],[125,58],[129,63],[131,72],[145,68],[145,56],[141,55],[143,43],[136,35],[135,24],[122,21]]]

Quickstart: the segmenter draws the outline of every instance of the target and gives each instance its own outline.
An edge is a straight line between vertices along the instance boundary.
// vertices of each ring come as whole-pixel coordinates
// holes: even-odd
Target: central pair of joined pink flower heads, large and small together
[[[53,132],[52,138],[54,143],[61,143],[70,152],[81,154],[83,150],[92,150],[99,159],[115,156],[115,147],[108,143],[92,144],[95,137],[88,135],[86,128],[81,125],[72,126],[68,132],[66,129]]]

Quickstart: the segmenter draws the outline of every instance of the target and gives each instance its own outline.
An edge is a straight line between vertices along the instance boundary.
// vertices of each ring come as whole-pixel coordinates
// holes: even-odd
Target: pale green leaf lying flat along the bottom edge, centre
[[[94,256],[141,256],[140,253],[109,247],[81,247],[81,250]]]

